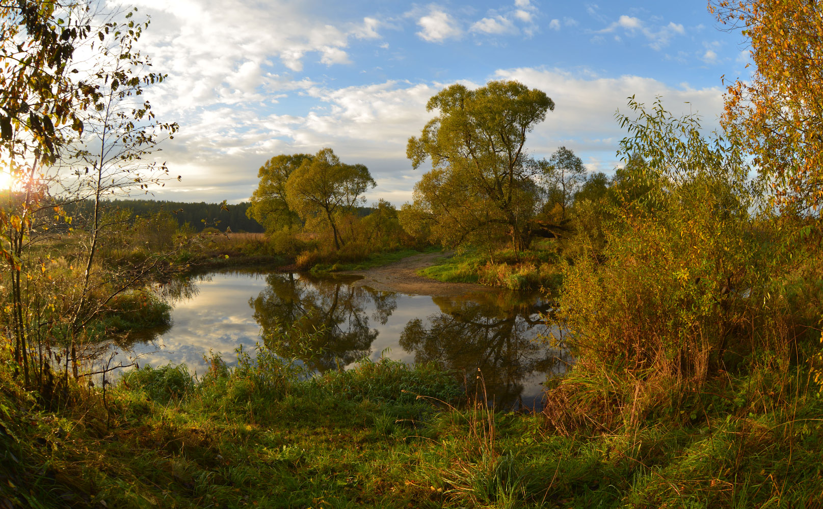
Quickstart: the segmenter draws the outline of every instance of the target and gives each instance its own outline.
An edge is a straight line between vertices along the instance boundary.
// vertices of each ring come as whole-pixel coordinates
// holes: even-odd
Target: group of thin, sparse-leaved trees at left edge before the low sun
[[[152,166],[142,159],[162,130],[176,129],[153,122],[150,105],[137,99],[142,86],[162,79],[146,73],[150,63],[132,49],[145,25],[131,20],[132,12],[122,19],[121,11],[92,7],[101,5],[0,7],[6,70],[0,73],[0,106],[7,115],[0,118],[0,160],[12,183],[7,207],[0,211],[0,252],[11,280],[11,305],[0,310],[0,322],[14,337],[15,361],[26,385],[41,388],[56,354],[51,342],[64,348],[66,378],[69,363],[77,377],[76,337],[86,335],[86,324],[111,298],[147,274],[149,266],[121,276],[123,264],[113,264],[117,271],[96,264],[100,241],[111,233],[101,199],[156,182],[142,172]],[[78,169],[83,164],[86,168]],[[165,174],[165,167],[157,169]],[[89,218],[72,218],[63,209],[73,203],[81,210],[90,198]],[[122,214],[117,217],[116,223],[126,223]],[[67,248],[60,241],[76,228],[86,229],[86,235]],[[42,247],[33,249],[37,244]],[[67,269],[52,272],[58,249],[59,257],[69,260]],[[85,274],[77,275],[76,268]]]

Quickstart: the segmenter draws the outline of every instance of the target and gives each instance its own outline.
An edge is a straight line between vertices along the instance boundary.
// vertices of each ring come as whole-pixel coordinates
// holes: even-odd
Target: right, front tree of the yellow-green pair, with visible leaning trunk
[[[303,219],[325,215],[332,228],[334,246],[340,249],[342,240],[336,215],[364,203],[362,194],[376,185],[363,164],[343,164],[332,149],[324,148],[310,160],[304,160],[286,180],[286,203]]]

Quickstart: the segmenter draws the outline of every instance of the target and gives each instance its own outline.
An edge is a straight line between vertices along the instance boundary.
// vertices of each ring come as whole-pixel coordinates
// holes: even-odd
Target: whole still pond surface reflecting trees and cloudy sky
[[[435,362],[472,381],[480,368],[498,408],[539,406],[540,384],[569,361],[541,340],[551,331],[540,315],[548,305],[538,295],[495,289],[407,295],[352,285],[357,279],[219,271],[175,281],[160,288],[174,306],[172,326],[131,338],[127,355],[154,367],[186,363],[202,374],[210,351],[231,361],[240,345],[253,349],[268,338],[277,354],[297,356],[317,372],[381,356]],[[313,353],[295,352],[277,336],[284,323],[323,331],[314,335]]]

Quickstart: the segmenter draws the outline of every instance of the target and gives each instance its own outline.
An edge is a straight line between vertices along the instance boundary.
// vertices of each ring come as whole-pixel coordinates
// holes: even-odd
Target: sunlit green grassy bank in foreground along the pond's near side
[[[142,368],[62,400],[4,364],[4,507],[820,507],[823,400],[797,365],[609,432],[490,413],[449,373],[383,361],[303,379],[271,357],[199,382]],[[262,366],[258,368],[257,366]],[[441,401],[459,405],[458,410]],[[420,395],[421,397],[418,397]],[[619,409],[615,409],[619,413]],[[579,418],[585,419],[585,415]]]

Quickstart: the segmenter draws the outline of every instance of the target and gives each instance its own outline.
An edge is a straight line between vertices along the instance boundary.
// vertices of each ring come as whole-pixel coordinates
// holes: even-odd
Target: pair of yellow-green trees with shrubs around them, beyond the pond
[[[375,185],[369,170],[343,164],[331,149],[277,155],[258,176],[246,214],[263,224],[273,251],[291,257],[299,269],[421,247],[388,201],[363,206],[363,193]]]

